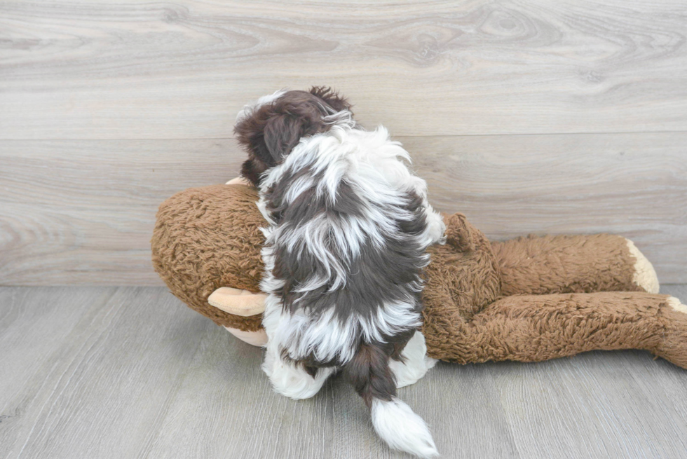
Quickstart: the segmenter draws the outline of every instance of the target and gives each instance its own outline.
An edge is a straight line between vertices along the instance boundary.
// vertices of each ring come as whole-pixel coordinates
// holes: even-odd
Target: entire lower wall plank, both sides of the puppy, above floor
[[[687,133],[397,137],[430,201],[490,238],[618,233],[687,282]],[[231,139],[0,142],[0,285],[161,285],[157,207],[223,183]]]

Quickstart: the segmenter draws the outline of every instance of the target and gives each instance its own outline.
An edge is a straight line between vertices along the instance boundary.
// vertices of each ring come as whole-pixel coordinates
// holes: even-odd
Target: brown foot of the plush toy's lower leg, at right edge
[[[661,336],[657,355],[687,369],[687,306],[674,296],[661,309],[665,330]]]

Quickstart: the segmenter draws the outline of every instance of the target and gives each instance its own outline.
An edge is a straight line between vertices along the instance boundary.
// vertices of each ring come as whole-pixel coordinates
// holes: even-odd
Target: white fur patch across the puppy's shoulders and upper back
[[[435,242],[443,243],[445,230],[441,215],[427,202],[426,182],[408,169],[409,154],[400,143],[392,142],[383,127],[374,131],[351,128],[351,114],[348,111],[339,112],[336,116],[339,124],[334,125],[332,130],[301,139],[283,163],[266,172],[258,201],[260,212],[270,224],[274,224],[266,210],[265,191],[280,181],[285,172],[310,167],[312,175],[324,174],[317,190],[332,203],[336,201],[336,190],[343,180],[367,203],[374,203],[365,206],[363,218],[348,217],[343,222],[334,222],[322,217],[298,228],[284,225],[266,233],[268,244],[280,241],[287,244],[290,251],[308,250],[325,266],[329,266],[334,281],[332,289],[345,285],[346,270],[343,263],[348,260],[338,260],[332,256],[323,247],[322,236],[325,233],[333,234],[340,252],[350,256],[359,253],[367,238],[382,248],[384,233],[397,231],[395,219],[408,216],[403,208],[403,191],[413,191],[423,200],[427,228],[419,236],[421,245],[428,247]],[[291,203],[313,181],[311,176],[301,177],[285,196],[286,203]],[[314,285],[313,289],[317,287]]]

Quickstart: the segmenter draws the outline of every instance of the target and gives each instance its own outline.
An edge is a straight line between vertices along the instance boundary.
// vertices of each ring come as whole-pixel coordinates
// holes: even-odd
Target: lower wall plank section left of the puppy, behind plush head
[[[236,177],[229,143],[0,142],[0,284],[161,285],[158,205]]]

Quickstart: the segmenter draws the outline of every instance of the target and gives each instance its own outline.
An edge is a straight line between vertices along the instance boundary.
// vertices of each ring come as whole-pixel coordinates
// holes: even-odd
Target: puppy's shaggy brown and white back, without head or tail
[[[426,221],[407,160],[386,130],[334,127],[302,139],[266,177],[273,268],[263,287],[294,316],[290,358],[341,365],[361,340],[402,348],[419,326]]]

